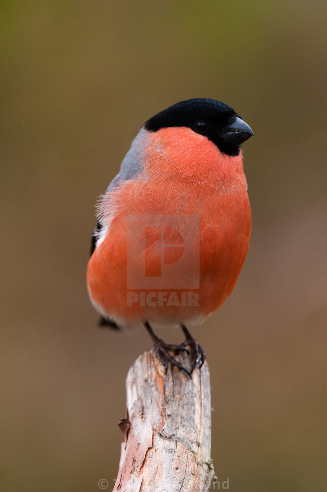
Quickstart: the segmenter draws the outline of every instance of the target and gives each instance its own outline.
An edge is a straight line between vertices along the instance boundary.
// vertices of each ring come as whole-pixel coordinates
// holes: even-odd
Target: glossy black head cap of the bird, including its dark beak
[[[253,135],[250,126],[228,104],[206,98],[178,102],[144,124],[149,131],[171,126],[191,128],[228,155],[238,155],[239,146]]]

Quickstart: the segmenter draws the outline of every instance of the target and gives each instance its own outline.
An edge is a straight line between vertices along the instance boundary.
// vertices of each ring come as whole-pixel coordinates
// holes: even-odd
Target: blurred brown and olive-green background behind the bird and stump
[[[326,1],[2,0],[0,47],[1,491],[114,485],[125,378],[151,341],[96,326],[94,206],[144,121],[191,97],[255,133],[248,257],[193,330],[216,474],[326,491]]]

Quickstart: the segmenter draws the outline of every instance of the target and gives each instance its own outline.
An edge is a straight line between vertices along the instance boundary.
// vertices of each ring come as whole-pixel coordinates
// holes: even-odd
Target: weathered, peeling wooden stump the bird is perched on
[[[180,354],[182,364],[187,356]],[[209,369],[192,379],[164,368],[151,350],[135,361],[127,379],[127,418],[121,447],[119,492],[207,492],[216,479],[211,447]]]

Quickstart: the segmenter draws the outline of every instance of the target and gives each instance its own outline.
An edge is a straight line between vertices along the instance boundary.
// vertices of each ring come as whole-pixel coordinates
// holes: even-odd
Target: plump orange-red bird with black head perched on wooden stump
[[[173,104],[144,123],[98,204],[87,288],[99,324],[144,326],[165,371],[201,368],[205,351],[188,327],[215,312],[240,275],[251,233],[240,146],[252,135],[221,101]],[[154,324],[181,327],[185,341],[164,342]]]

